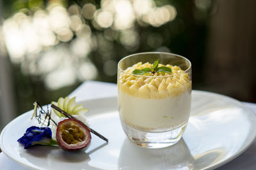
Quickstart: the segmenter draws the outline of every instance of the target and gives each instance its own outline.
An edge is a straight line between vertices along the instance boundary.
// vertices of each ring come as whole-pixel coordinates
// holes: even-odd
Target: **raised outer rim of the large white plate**
[[[219,96],[219,97],[226,98],[226,99],[228,99],[228,100],[230,100],[234,103],[239,104],[240,105],[239,107],[245,108],[246,109],[246,114],[250,115],[250,117],[254,117],[254,119],[256,120],[255,112],[252,109],[248,108],[248,106],[243,104],[241,101],[238,101],[237,99],[234,99],[234,98],[229,97],[229,96],[225,96],[223,94],[217,94],[217,93],[214,93],[214,92],[207,92],[207,91],[203,91],[203,90],[192,90],[192,97],[193,97],[193,94],[199,94],[199,95],[200,94],[207,94],[209,96]],[[88,103],[89,101],[90,102],[93,102],[93,101],[95,102],[95,101],[99,101],[99,100],[106,101],[108,99],[116,100],[117,96],[100,97],[100,98],[97,98],[97,99],[84,99],[84,100],[80,99],[80,100],[77,101],[77,103]],[[113,108],[113,109],[117,111],[117,108]],[[33,169],[41,169],[40,167],[38,168],[38,166],[34,167],[33,164],[28,165],[28,164],[22,162],[20,159],[16,159],[15,157],[12,157],[11,155],[8,154],[8,150],[6,150],[6,148],[4,148],[4,144],[3,144],[3,136],[4,136],[4,132],[6,131],[6,129],[8,129],[8,127],[10,127],[10,125],[12,125],[13,122],[17,121],[20,117],[24,117],[25,115],[28,115],[32,111],[33,110],[29,110],[29,111],[26,111],[25,113],[20,114],[18,117],[14,118],[11,122],[9,122],[4,127],[4,129],[1,131],[1,134],[0,134],[0,146],[1,146],[1,150],[4,153],[4,155],[6,155],[10,159],[14,160],[15,162],[19,163],[21,166],[28,167],[28,168],[33,168]],[[254,126],[256,127],[256,125],[254,125]],[[223,166],[224,164],[227,164],[231,160],[236,159],[236,157],[241,155],[245,150],[247,150],[253,144],[253,141],[255,141],[255,139],[256,139],[256,131],[254,132],[254,136],[253,136],[253,138],[251,138],[251,141],[249,141],[247,145],[241,146],[241,148],[239,148],[239,151],[237,153],[231,155],[227,159],[224,159],[220,162],[217,162],[216,164],[214,164],[212,166],[204,167],[204,169],[215,169],[217,167]]]

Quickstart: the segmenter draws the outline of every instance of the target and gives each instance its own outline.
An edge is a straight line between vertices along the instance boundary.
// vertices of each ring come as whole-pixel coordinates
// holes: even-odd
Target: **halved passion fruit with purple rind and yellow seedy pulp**
[[[68,118],[57,125],[56,139],[63,150],[79,150],[91,142],[90,130],[76,119]]]

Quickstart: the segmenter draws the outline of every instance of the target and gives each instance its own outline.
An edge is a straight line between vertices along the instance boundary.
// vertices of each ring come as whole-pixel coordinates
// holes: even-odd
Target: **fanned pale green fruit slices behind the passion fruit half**
[[[84,108],[82,104],[76,104],[76,97],[72,97],[71,99],[69,97],[60,97],[60,99],[58,99],[58,102],[52,101],[52,104],[56,105],[58,108],[64,110],[70,115],[80,115],[88,112],[88,109]],[[60,113],[60,111],[53,111],[58,117],[65,117],[65,115]]]

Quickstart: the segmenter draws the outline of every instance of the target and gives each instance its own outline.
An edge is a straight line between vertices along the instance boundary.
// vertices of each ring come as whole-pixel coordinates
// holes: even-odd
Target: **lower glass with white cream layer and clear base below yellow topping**
[[[145,148],[172,146],[181,138],[190,115],[191,93],[142,99],[118,91],[118,111],[128,138]]]

